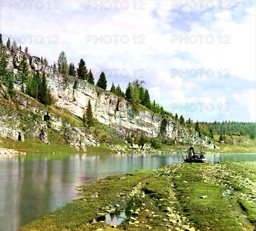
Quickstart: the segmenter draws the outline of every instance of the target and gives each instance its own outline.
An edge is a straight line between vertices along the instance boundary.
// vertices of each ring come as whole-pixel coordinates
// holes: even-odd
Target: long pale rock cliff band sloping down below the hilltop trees
[[[8,55],[9,68],[17,73],[17,67],[23,55],[22,51],[16,51],[2,47]],[[136,132],[145,134],[148,137],[157,137],[164,134],[173,140],[182,143],[201,143],[201,138],[196,131],[178,125],[173,121],[166,121],[163,117],[141,109],[134,113],[131,103],[127,100],[105,91],[96,86],[92,86],[86,81],[76,77],[62,76],[58,71],[54,72],[50,66],[44,66],[40,58],[26,56],[30,71],[45,71],[47,75],[47,85],[52,94],[58,99],[56,105],[66,108],[73,114],[82,117],[86,110],[88,100],[91,101],[94,117],[99,122],[109,125],[116,130],[130,134]],[[15,88],[20,90],[20,85],[15,84]],[[52,123],[58,123],[52,121]],[[60,125],[57,127],[60,127]],[[58,129],[58,128],[57,128]],[[212,140],[203,138],[203,144],[209,146]]]

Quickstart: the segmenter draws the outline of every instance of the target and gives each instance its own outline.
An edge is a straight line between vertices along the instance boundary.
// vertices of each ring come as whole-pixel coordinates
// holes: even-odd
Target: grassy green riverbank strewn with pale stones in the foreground
[[[139,170],[81,185],[80,199],[19,230],[250,231],[256,226],[255,186],[256,162],[183,163]],[[232,193],[224,196],[224,192]],[[111,224],[108,214],[125,214],[125,219]]]

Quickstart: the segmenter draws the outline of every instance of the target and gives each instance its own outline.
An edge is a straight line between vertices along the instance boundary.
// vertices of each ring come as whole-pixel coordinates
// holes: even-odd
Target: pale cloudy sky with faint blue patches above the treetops
[[[256,121],[255,0],[0,1],[0,33],[46,57],[63,50],[125,91],[196,121]]]

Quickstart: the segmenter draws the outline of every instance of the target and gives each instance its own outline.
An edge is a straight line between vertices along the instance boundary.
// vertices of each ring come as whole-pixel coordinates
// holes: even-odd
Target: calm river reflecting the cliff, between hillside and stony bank
[[[256,161],[256,154],[207,154],[212,161]],[[0,157],[0,230],[15,231],[66,202],[90,180],[182,163],[180,154],[33,154]]]

